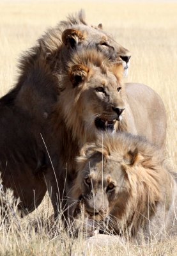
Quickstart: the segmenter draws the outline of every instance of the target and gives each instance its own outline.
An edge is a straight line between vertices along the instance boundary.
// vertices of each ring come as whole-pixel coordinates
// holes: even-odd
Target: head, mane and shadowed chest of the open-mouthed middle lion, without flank
[[[120,63],[112,65],[102,52],[81,47],[58,77],[61,92],[47,132],[53,136],[47,146],[57,172],[45,173],[56,215],[58,207],[65,211],[63,204],[76,175],[75,157],[83,145],[95,141],[101,131],[124,128],[124,123],[118,122],[125,109],[122,76]]]

